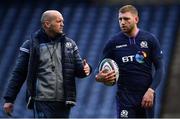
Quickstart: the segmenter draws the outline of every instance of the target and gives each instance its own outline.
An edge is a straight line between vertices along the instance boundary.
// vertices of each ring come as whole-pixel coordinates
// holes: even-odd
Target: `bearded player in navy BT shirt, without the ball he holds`
[[[155,89],[164,72],[160,43],[153,34],[138,28],[138,11],[134,6],[121,7],[118,19],[121,32],[107,42],[102,57],[113,59],[119,67],[117,116],[153,117]],[[111,83],[114,80],[114,70],[109,73],[102,70],[96,75],[98,82]],[[149,116],[148,112],[151,112]]]

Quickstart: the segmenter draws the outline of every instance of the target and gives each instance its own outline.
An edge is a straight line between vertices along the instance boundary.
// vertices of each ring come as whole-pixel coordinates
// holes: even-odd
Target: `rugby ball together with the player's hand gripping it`
[[[119,78],[119,69],[112,59],[104,59],[99,66],[99,73],[96,75],[96,81],[105,85],[113,86]]]

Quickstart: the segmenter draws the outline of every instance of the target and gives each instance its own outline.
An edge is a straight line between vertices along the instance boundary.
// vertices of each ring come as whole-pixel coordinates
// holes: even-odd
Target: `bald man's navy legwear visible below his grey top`
[[[36,118],[69,118],[70,108],[65,102],[35,101],[34,116]]]

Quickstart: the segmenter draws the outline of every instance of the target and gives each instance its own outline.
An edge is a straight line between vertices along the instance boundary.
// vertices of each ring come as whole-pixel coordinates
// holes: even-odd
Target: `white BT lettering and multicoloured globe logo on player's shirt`
[[[133,62],[134,59],[138,63],[144,63],[144,59],[147,57],[147,54],[144,51],[138,51],[135,55],[129,55],[122,57],[122,62]]]

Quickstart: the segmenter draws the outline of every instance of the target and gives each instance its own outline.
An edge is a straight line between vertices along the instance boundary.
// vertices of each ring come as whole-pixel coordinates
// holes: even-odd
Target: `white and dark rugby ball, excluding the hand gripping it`
[[[118,78],[119,78],[119,68],[118,68],[117,63],[110,58],[105,58],[101,61],[99,65],[99,71],[104,70],[104,69],[105,69],[105,72],[110,72],[112,70],[115,71],[116,79],[110,83],[104,82],[104,84],[108,86],[114,85],[118,81]]]

